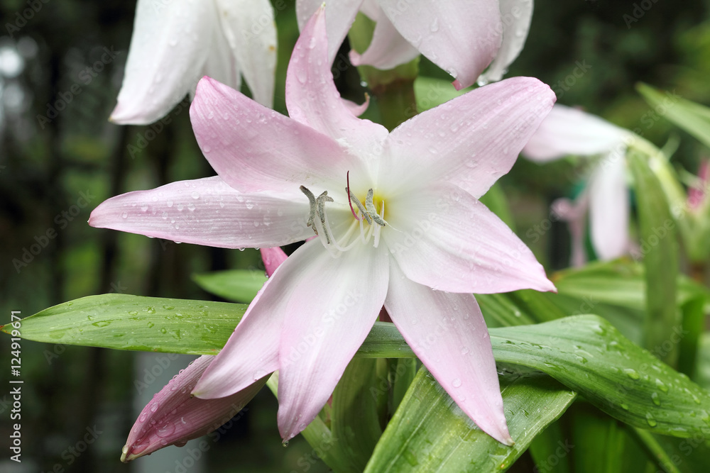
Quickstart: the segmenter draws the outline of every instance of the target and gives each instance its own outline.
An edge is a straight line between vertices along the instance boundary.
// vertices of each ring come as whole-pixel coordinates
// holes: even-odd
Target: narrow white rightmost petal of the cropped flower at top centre
[[[503,43],[479,83],[495,82],[508,72],[508,66],[523,50],[528,39],[530,21],[532,21],[532,0],[499,0],[501,19],[503,20]]]

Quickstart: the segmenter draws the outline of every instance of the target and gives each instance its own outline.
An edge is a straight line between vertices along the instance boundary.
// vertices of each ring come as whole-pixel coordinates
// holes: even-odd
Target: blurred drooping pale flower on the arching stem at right
[[[632,137],[629,130],[597,116],[556,104],[523,148],[523,155],[536,162],[567,155],[602,156],[574,212],[579,220],[584,216],[582,211],[589,208],[591,243],[601,260],[613,260],[630,249],[625,156]],[[574,226],[578,229],[579,222]],[[578,230],[573,233],[574,238],[582,238]],[[581,247],[581,241],[573,242],[573,246]]]

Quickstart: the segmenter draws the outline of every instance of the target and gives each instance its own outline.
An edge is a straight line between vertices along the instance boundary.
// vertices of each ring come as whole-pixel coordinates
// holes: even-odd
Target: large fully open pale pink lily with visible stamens
[[[116,196],[89,224],[232,248],[317,235],[268,279],[196,396],[229,396],[278,369],[278,425],[293,438],[327,402],[384,306],[461,410],[510,445],[471,293],[555,286],[477,198],[513,166],[554,100],[545,84],[518,77],[388,133],[341,101],[320,9],[288,67],[289,117],[205,77],[190,116],[219,175]]]

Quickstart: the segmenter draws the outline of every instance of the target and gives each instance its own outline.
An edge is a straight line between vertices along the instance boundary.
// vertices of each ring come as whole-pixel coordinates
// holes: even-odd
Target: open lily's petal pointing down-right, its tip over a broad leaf
[[[410,281],[395,262],[390,271],[385,308],[408,345],[481,430],[513,445],[491,340],[474,296],[432,291]]]

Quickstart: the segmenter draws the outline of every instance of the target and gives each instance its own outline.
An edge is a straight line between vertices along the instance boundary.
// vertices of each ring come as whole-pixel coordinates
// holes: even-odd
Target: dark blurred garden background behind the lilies
[[[37,11],[20,21],[31,4]],[[276,4],[285,8],[276,9],[275,108],[285,113],[285,68],[297,26],[293,1]],[[694,171],[706,150],[654,115],[634,85],[643,81],[710,104],[708,6],[701,0],[536,1],[528,42],[508,76],[538,77],[555,90],[559,103],[638,129],[657,145],[679,136],[679,163]],[[193,273],[261,265],[255,250],[178,245],[86,223],[92,208],[110,196],[214,174],[197,148],[185,106],[160,129],[107,121],[134,10],[133,1],[0,1],[0,323],[9,322],[10,311],[29,316],[106,292],[214,300],[192,282]],[[82,72],[104,48],[118,54],[87,83]],[[427,60],[420,69],[449,79]],[[70,94],[65,109],[50,121],[38,119],[75,84],[80,92]],[[337,84],[349,97],[365,91],[354,67],[340,73]],[[377,113],[377,104],[372,107]],[[552,200],[574,194],[583,177],[584,169],[569,161],[541,167],[520,160],[501,179],[518,235],[550,270],[567,265],[566,228],[556,223],[535,242],[527,230],[547,216]],[[36,255],[28,252],[35,244],[41,246]],[[9,338],[0,337],[0,360],[9,360],[9,352]],[[15,467],[26,469],[13,471],[51,471],[55,465],[63,471],[129,471],[131,465],[118,459],[136,418],[136,354],[27,341],[21,356],[23,464]],[[4,366],[0,437],[7,439],[9,364]],[[327,471],[301,438],[281,446],[275,409],[273,396],[263,391],[200,460],[204,471]],[[67,447],[94,424],[107,435],[82,455],[67,456]]]

